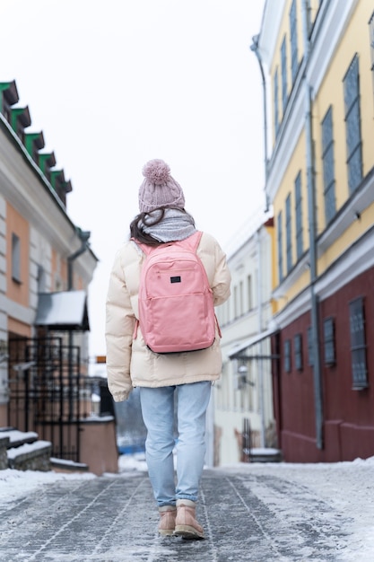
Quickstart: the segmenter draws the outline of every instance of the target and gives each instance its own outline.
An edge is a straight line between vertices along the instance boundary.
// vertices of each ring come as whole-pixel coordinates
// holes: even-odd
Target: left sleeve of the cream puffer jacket
[[[133,388],[130,361],[135,313],[121,261],[118,250],[109,277],[105,329],[108,388],[116,402],[127,400]]]

